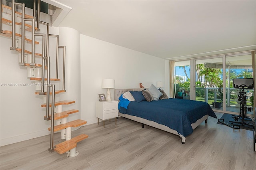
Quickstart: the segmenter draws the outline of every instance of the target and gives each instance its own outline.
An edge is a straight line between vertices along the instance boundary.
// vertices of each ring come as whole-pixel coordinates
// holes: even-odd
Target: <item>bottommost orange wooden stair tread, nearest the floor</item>
[[[64,142],[61,142],[59,144],[56,144],[54,150],[58,154],[64,154],[68,150],[71,150],[72,148],[76,147],[76,143],[80,142],[84,139],[88,138],[87,134],[80,134],[74,138],[71,138],[70,140],[66,140]]]

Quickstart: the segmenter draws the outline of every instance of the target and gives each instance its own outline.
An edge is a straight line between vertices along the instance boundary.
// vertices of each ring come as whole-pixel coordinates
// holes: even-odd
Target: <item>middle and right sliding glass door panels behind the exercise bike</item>
[[[194,91],[191,92],[193,94],[191,99],[205,101],[215,110],[238,114],[240,112],[239,89],[233,88],[233,79],[253,77],[252,53],[194,59],[193,65],[195,65],[192,84]],[[253,93],[254,89],[246,89],[247,107],[253,107]]]

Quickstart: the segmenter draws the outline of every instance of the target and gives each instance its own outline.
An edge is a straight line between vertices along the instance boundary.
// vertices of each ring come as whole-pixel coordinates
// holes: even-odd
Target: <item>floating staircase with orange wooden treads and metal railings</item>
[[[5,0],[0,0],[0,35],[8,38],[12,38],[12,47],[11,50],[18,51],[20,54],[20,63],[22,67],[27,67],[28,77],[32,81],[36,81],[38,86],[36,86],[35,95],[44,95],[46,96],[46,103],[42,104],[41,107],[46,107],[46,115],[44,116],[44,120],[51,121],[51,127],[48,128],[50,133],[50,148],[48,149],[50,152],[56,151],[59,154],[63,154],[68,152],[68,157],[74,157],[78,155],[76,151],[77,142],[80,142],[86,138],[88,138],[87,134],[80,134],[72,138],[72,130],[71,128],[80,127],[86,124],[84,120],[74,120],[68,122],[68,116],[70,114],[78,113],[79,111],[76,109],[71,109],[68,111],[62,111],[62,105],[70,105],[75,103],[75,101],[56,101],[55,96],[60,93],[65,93],[65,46],[60,46],[58,44],[58,35],[49,34],[49,24],[40,21],[39,16],[40,12],[37,14],[37,18],[34,16],[30,16],[25,14],[25,4],[20,4],[14,2],[12,0],[12,7],[6,6],[3,4]],[[40,6],[40,0],[36,1],[38,6]],[[7,4],[7,3],[6,3]],[[18,6],[18,10],[13,7]],[[33,9],[34,14],[36,14],[36,9]],[[37,10],[38,12],[38,10]],[[25,23],[26,22],[26,23]],[[31,22],[30,24],[27,24]],[[37,22],[37,27],[35,27],[35,22]],[[2,24],[6,25],[5,30],[2,28]],[[47,26],[46,33],[42,33],[39,26],[43,24]],[[38,32],[38,33],[35,33]],[[31,39],[26,38],[31,37]],[[31,34],[31,35],[30,35]],[[40,36],[42,37],[41,41],[35,41],[34,37]],[[57,46],[56,49],[56,77],[50,78],[50,57],[48,56],[48,51],[51,50],[48,45],[49,37],[56,37]],[[25,43],[31,45],[31,48],[25,49]],[[42,53],[35,53],[35,45],[42,45]],[[28,45],[26,45],[27,48]],[[63,49],[63,77],[62,77],[62,89],[55,91],[55,84],[51,84],[51,81],[59,82],[61,79],[58,78],[58,51],[59,49]],[[31,50],[31,51],[30,51]],[[35,57],[39,61],[35,61]],[[47,72],[47,73],[45,73]],[[45,83],[46,81],[46,83]],[[46,88],[45,88],[46,87]],[[50,92],[50,88],[52,91]],[[46,91],[45,91],[46,89]],[[51,114],[50,114],[51,108]],[[61,131],[61,139],[65,140],[59,144],[53,143],[54,132]]]

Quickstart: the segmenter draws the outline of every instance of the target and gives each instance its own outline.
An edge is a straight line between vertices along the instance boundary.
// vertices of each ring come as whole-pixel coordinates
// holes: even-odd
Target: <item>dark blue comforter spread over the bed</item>
[[[165,125],[184,137],[192,134],[191,124],[204,115],[217,118],[206,102],[172,98],[151,102],[132,101],[127,109],[120,107],[119,112]]]

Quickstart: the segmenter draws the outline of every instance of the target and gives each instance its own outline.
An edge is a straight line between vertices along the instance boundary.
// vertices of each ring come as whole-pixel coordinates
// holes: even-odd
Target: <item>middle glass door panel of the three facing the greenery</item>
[[[223,90],[223,56],[195,60],[195,97],[205,101],[214,109],[225,107]],[[224,82],[225,84],[225,82]]]

